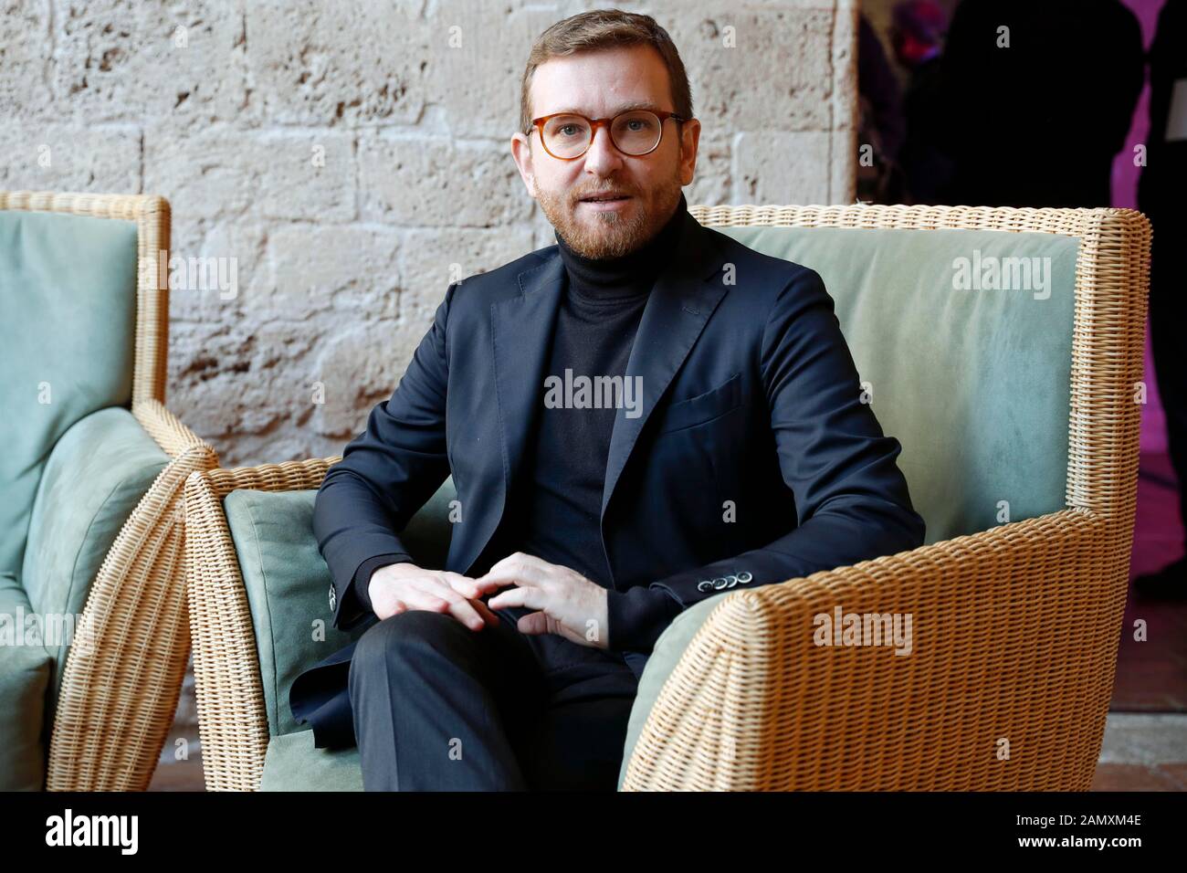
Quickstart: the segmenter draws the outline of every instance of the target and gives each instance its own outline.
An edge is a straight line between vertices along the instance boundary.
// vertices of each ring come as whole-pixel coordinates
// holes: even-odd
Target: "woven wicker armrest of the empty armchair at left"
[[[103,559],[83,608],[93,645],[72,646],[53,717],[46,787],[140,791],[173,723],[190,652],[182,572],[182,489],[218,466],[164,404],[132,413],[170,456]]]

